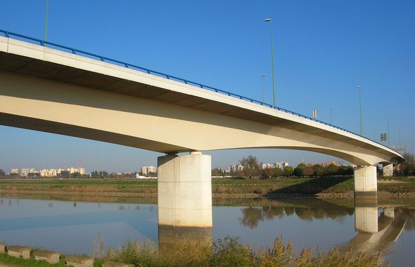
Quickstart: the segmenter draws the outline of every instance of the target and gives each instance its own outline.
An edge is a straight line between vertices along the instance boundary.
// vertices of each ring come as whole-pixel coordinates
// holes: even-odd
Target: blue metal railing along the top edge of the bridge
[[[230,92],[227,92],[227,91],[223,91],[221,89],[216,89],[216,88],[214,88],[212,86],[208,86],[208,85],[205,85],[205,84],[200,84],[199,82],[192,82],[190,80],[185,80],[185,79],[182,79],[182,78],[179,78],[179,77],[175,77],[173,75],[169,75],[169,74],[165,74],[165,73],[160,73],[159,71],[153,71],[153,70],[151,70],[149,68],[143,68],[141,66],[137,66],[137,65],[134,65],[134,64],[129,64],[129,63],[126,63],[126,62],[121,62],[121,61],[119,61],[117,59],[111,59],[109,57],[102,57],[100,55],[96,55],[96,54],[93,54],[93,53],[85,52],[83,50],[71,48],[71,47],[68,47],[68,46],[62,46],[61,44],[55,44],[55,43],[48,42],[48,41],[44,41],[44,40],[41,40],[41,39],[37,39],[37,38],[33,38],[33,37],[28,37],[28,36],[25,36],[25,35],[20,35],[19,33],[11,33],[11,32],[9,32],[7,30],[1,30],[0,29],[0,33],[3,33],[4,37],[7,37],[7,38],[19,37],[19,38],[24,39],[24,40],[28,40],[28,41],[32,41],[32,42],[38,43],[41,46],[45,46],[46,47],[46,45],[48,45],[48,46],[53,46],[53,47],[57,47],[57,48],[62,48],[64,50],[71,51],[71,53],[73,53],[74,55],[86,55],[86,56],[91,57],[91,58],[100,59],[100,61],[102,61],[102,62],[116,63],[116,64],[118,64],[120,66],[124,66],[125,68],[131,68],[131,69],[135,69],[137,71],[142,71],[142,72],[145,72],[145,73],[148,73],[148,74],[158,75],[158,76],[161,76],[161,77],[165,77],[165,78],[167,78],[169,80],[176,80],[178,82],[183,82],[185,84],[190,84],[190,85],[198,86],[201,89],[208,89],[208,90],[214,91],[216,93],[221,93],[223,95],[232,96],[233,98],[239,98],[241,100],[246,100],[246,101],[251,102],[251,103],[260,104],[261,106],[270,107],[271,109],[273,108],[273,105],[271,105],[271,104],[267,104],[267,103],[264,103],[264,102],[261,102],[261,101],[258,101],[258,100],[253,100],[252,98],[246,98],[246,97],[244,97],[242,95],[237,95],[236,93],[230,93]],[[14,38],[14,39],[17,39],[17,38]],[[279,111],[283,111],[285,113],[289,113],[289,114],[292,114],[292,115],[295,115],[295,116],[298,116],[298,117],[301,117],[301,118],[306,118],[308,120],[313,120],[315,122],[321,123],[322,125],[327,125],[329,127],[335,128],[335,129],[339,129],[339,130],[342,130],[342,131],[346,131],[347,133],[351,133],[351,134],[353,134],[355,136],[360,136],[360,134],[358,134],[358,133],[353,133],[353,131],[349,131],[347,129],[343,129],[341,127],[337,127],[335,125],[331,125],[330,123],[323,122],[322,120],[317,120],[317,119],[314,119],[314,118],[311,118],[311,117],[308,117],[308,116],[304,116],[302,114],[299,114],[299,113],[296,113],[296,112],[293,112],[293,111],[288,111],[288,110],[282,109],[280,107],[274,107],[274,109],[277,109]],[[364,136],[360,136],[360,137],[365,138],[367,140],[370,140],[372,142],[376,142],[376,141],[371,140],[369,138],[366,138]],[[379,142],[376,142],[376,143],[379,144],[379,145],[382,145]],[[382,145],[382,146],[386,147],[385,145]]]

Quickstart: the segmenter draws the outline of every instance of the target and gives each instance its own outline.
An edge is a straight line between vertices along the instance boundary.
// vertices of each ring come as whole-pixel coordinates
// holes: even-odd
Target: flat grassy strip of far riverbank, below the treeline
[[[321,199],[352,199],[354,184],[349,177],[323,178],[214,178],[214,199],[247,199],[266,197],[284,199],[293,196],[313,196]],[[157,180],[113,179],[10,179],[0,180],[0,193],[80,195],[93,198],[140,197],[156,198]],[[414,177],[389,177],[378,180],[378,197],[415,199]]]

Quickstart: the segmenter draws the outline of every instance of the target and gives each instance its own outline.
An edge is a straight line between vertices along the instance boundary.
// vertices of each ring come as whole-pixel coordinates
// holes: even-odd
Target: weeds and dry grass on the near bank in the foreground
[[[304,249],[295,255],[293,245],[276,239],[272,248],[254,251],[249,245],[243,245],[239,239],[225,237],[212,243],[183,244],[172,253],[157,252],[153,243],[126,241],[121,248],[103,253],[98,248],[94,266],[99,267],[105,261],[118,261],[134,266],[381,266],[382,256],[368,255],[362,252],[334,248],[328,252]],[[0,265],[10,266],[64,266],[46,261],[19,259],[0,254]]]

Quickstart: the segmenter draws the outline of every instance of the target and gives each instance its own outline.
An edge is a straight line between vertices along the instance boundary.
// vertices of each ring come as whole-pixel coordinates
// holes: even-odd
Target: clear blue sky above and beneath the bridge
[[[46,0],[2,0],[0,28],[43,39]],[[415,1],[50,0],[48,40],[272,103],[273,19],[277,106],[359,131],[387,132],[415,151]],[[0,62],[1,64],[1,62]],[[0,168],[82,166],[135,171],[161,154],[0,126]],[[209,151],[212,166],[332,157],[282,149]]]

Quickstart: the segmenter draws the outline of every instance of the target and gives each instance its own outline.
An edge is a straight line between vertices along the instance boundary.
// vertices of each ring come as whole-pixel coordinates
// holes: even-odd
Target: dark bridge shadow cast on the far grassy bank
[[[315,195],[323,192],[324,190],[333,187],[334,185],[338,185],[343,183],[344,181],[349,180],[351,177],[344,176],[344,177],[320,177],[320,178],[310,178],[309,181],[304,183],[299,183],[297,185],[289,185],[287,187],[278,188],[276,190],[270,191],[266,196],[268,198],[273,198],[275,195],[279,194],[302,194],[302,195]],[[353,190],[350,189],[349,185],[344,185],[346,187],[345,191]]]

